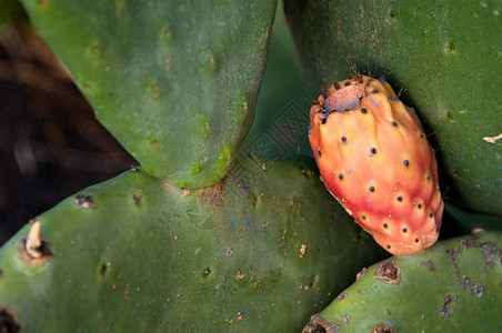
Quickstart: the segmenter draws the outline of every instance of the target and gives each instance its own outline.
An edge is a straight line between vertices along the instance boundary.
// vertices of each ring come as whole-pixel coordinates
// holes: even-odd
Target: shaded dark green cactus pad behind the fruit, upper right
[[[287,0],[310,90],[385,75],[438,148],[446,198],[502,214],[500,1]]]

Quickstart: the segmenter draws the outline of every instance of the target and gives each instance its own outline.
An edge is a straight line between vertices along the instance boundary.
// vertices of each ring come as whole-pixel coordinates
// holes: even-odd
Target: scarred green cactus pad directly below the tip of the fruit
[[[390,258],[361,271],[303,332],[501,332],[501,261],[494,231]]]

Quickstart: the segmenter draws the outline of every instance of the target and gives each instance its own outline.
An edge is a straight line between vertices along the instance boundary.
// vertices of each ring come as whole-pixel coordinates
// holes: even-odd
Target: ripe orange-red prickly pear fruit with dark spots
[[[384,79],[335,82],[314,101],[310,122],[327,189],[382,248],[408,255],[438,240],[443,201],[434,152]]]

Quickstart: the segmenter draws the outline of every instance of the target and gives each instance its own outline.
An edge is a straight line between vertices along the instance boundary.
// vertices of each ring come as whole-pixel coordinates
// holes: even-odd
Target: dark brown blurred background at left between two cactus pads
[[[31,28],[0,30],[0,245],[64,198],[137,164]]]

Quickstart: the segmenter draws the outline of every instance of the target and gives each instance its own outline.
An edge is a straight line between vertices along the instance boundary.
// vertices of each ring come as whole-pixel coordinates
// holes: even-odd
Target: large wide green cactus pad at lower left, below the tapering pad
[[[141,170],[88,188],[0,250],[0,314],[23,332],[300,331],[385,255],[313,165],[248,155],[210,188]]]

